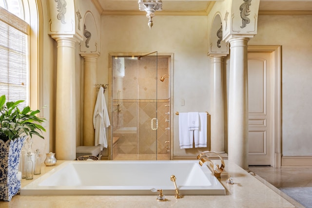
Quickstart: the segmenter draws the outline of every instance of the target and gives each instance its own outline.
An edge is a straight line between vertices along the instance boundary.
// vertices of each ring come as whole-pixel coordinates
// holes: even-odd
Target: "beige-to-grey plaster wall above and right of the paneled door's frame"
[[[282,154],[312,156],[312,16],[259,16],[249,45],[282,46]]]

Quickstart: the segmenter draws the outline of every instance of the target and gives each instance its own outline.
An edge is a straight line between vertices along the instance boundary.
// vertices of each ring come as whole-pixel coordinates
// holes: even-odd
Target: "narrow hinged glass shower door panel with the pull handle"
[[[138,58],[138,159],[157,159],[157,52]]]

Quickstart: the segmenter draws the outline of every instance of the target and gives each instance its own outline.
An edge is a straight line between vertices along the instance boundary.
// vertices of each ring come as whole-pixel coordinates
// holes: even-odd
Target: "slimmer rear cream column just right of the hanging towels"
[[[212,65],[211,80],[211,151],[224,153],[224,119],[223,119],[223,87],[222,56],[210,56]]]

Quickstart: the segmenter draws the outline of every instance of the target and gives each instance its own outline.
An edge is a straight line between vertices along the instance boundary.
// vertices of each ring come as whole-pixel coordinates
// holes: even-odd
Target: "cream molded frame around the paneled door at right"
[[[272,109],[272,140],[271,166],[280,168],[282,165],[281,153],[281,46],[280,45],[248,45],[248,53],[271,53],[271,109]]]

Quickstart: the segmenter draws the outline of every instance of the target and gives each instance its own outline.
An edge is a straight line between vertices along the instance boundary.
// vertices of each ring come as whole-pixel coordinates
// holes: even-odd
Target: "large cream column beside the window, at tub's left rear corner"
[[[57,41],[56,157],[76,158],[75,38],[51,35]]]

